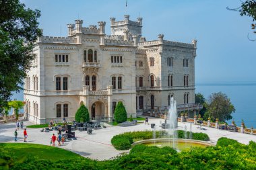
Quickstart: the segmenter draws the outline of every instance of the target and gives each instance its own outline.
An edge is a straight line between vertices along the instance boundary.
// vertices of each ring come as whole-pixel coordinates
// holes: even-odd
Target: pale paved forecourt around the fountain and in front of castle
[[[163,119],[160,118],[149,118],[149,122],[156,124],[156,130],[160,130],[159,128],[160,122],[164,122]],[[24,122],[25,126],[28,126],[32,123]],[[179,129],[184,129],[187,126],[189,130],[190,124],[189,123],[182,123],[179,122],[178,124]],[[217,130],[215,128],[208,128],[202,126],[205,130],[201,130],[199,126],[192,125],[193,132],[203,132],[208,134],[210,137],[210,142],[216,144],[218,138],[225,136],[227,138],[233,138],[238,140],[238,142],[248,144],[250,140],[256,142],[256,136],[250,134],[242,134],[238,132],[228,132],[226,130]],[[15,130],[15,123],[9,124],[0,124],[0,142],[14,142],[14,130]],[[50,138],[53,133],[57,134],[57,131],[53,132],[40,132],[41,128],[28,128],[28,143],[36,143],[36,144],[45,144],[50,145]],[[107,128],[102,128],[99,130],[93,130],[93,134],[87,134],[86,131],[79,132],[75,130],[75,136],[77,140],[69,140],[65,142],[64,145],[58,146],[61,148],[65,148],[66,150],[72,151],[83,157],[88,157],[91,159],[111,159],[116,157],[121,153],[127,153],[128,151],[117,151],[111,145],[111,138],[116,134],[120,134],[123,132],[131,132],[137,130],[152,130],[150,125],[146,124],[137,124],[136,126],[129,126],[129,127],[120,127],[120,126],[111,126]],[[23,131],[18,130],[18,142],[23,142]]]

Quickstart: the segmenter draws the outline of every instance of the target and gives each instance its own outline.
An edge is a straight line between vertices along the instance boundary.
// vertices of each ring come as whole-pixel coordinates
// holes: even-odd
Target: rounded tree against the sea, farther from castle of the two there
[[[218,118],[221,122],[232,119],[231,114],[236,110],[228,96],[222,92],[212,93],[207,99],[207,112],[205,118]]]

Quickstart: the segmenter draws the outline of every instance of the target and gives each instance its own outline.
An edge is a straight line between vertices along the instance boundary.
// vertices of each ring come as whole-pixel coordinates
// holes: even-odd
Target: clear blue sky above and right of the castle
[[[131,20],[143,17],[142,34],[147,40],[188,42],[197,39],[195,81],[232,82],[256,81],[256,42],[247,39],[253,35],[252,19],[241,17],[229,7],[241,5],[239,0],[22,0],[26,7],[39,9],[40,28],[44,36],[67,36],[67,24],[79,18],[83,26],[106,22],[110,34],[110,17],[122,20],[128,13]]]

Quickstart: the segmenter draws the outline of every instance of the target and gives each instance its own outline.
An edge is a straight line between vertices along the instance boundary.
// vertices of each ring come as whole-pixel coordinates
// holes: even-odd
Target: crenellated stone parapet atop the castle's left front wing
[[[40,36],[38,38],[38,42],[73,44],[73,43],[77,42],[77,38],[74,38],[74,37]]]

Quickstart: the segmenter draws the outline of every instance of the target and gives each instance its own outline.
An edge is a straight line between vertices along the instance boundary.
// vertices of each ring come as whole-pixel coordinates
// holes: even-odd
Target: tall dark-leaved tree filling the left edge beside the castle
[[[34,58],[32,49],[41,31],[40,11],[25,9],[19,0],[0,0],[0,108],[7,107],[12,91],[20,91]]]

